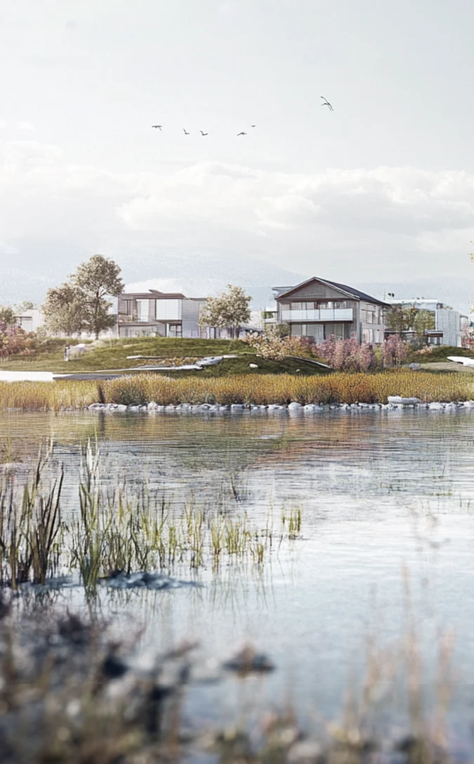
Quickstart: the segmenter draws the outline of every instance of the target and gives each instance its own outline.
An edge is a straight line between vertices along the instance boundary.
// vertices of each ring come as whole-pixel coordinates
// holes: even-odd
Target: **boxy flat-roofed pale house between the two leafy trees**
[[[199,325],[202,298],[158,290],[123,293],[118,298],[119,337],[201,337]]]

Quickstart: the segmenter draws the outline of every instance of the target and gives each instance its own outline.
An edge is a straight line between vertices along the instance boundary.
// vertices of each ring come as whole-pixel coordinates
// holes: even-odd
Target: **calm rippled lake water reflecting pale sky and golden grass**
[[[221,659],[249,638],[277,664],[251,683],[251,698],[281,699],[291,687],[303,711],[331,715],[347,678],[364,659],[367,633],[383,643],[404,630],[404,571],[422,634],[434,656],[441,630],[456,636],[455,720],[474,709],[474,413],[364,412],[317,416],[9,413],[2,447],[34,459],[53,438],[67,467],[66,496],[75,510],[79,452],[97,437],[104,481],[133,485],[146,477],[179,503],[190,492],[224,497],[264,525],[273,507],[303,510],[303,539],[274,553],[262,575],[246,568],[205,569],[199,590],[120,593],[104,607],[120,628],[146,626],[142,645],[162,649],[200,639],[203,659]],[[21,470],[19,468],[19,473]],[[230,476],[242,493],[232,505]],[[78,597],[78,594],[75,595]],[[429,660],[428,660],[429,663]],[[242,692],[229,680],[191,691],[194,717],[226,715]]]

